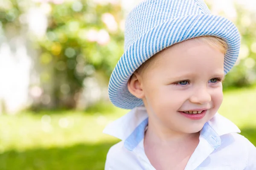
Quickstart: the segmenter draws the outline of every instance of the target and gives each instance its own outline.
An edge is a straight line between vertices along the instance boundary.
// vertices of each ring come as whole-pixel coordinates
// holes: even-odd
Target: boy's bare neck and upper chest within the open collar
[[[148,125],[144,137],[144,150],[157,170],[184,170],[199,143],[200,133],[177,133]]]

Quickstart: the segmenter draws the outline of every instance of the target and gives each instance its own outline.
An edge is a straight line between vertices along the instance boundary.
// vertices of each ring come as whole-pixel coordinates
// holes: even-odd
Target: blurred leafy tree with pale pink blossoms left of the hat
[[[122,55],[123,36],[119,3],[72,1],[51,3],[46,36],[39,41],[41,62],[52,82],[55,108],[75,108],[84,79],[95,71],[111,74]]]

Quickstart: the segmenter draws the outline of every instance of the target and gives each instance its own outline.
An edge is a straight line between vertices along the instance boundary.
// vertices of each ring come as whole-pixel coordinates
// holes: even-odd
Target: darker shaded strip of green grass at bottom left
[[[9,150],[0,155],[1,170],[103,170],[115,142]]]

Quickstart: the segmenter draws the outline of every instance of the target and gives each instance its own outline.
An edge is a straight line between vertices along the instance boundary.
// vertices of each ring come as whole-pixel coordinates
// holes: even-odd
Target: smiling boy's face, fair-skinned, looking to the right
[[[153,62],[138,75],[149,122],[175,132],[200,131],[223,100],[224,54],[203,41],[187,40]]]

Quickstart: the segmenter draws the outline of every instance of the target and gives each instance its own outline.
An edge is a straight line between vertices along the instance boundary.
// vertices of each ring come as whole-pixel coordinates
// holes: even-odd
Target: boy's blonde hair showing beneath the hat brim
[[[195,38],[193,38],[193,40],[196,40],[198,42],[203,41],[203,42],[207,43],[208,45],[212,46],[213,48],[216,48],[221,53],[223,53],[223,54],[227,53],[227,48],[228,48],[227,43],[219,37],[207,35],[207,36],[195,37]],[[165,51],[165,49],[163,51]],[[160,52],[162,52],[162,51],[160,51]],[[159,53],[157,53],[157,54],[159,54]],[[148,60],[143,62],[142,65],[140,65],[140,67],[137,68],[136,72],[140,73],[143,69],[147,68],[150,63],[152,64],[153,58],[154,58],[154,56],[150,57]],[[156,64],[156,63],[153,62],[153,64]]]

